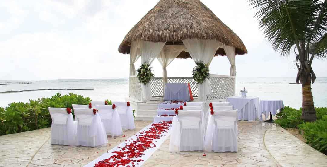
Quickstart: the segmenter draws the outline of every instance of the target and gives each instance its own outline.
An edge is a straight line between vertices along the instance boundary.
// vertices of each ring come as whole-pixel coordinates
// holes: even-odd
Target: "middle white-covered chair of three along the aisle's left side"
[[[120,118],[118,111],[112,109],[112,105],[95,105],[96,109],[99,110],[101,121],[104,124],[107,135],[120,136],[123,134]]]

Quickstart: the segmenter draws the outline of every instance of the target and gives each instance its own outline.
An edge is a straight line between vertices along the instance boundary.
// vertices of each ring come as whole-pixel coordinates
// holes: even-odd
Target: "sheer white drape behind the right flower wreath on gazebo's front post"
[[[221,46],[221,43],[216,40],[185,39],[183,43],[194,62],[206,63],[208,67],[217,49]],[[206,79],[202,84],[198,85],[198,99],[200,101],[206,101],[207,95],[211,92],[209,80]]]

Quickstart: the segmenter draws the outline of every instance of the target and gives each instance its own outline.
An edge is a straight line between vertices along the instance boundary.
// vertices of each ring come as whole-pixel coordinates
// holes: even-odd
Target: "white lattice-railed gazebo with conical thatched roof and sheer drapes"
[[[226,99],[235,94],[235,55],[247,53],[242,40],[199,0],[160,0],[125,36],[120,53],[130,54],[129,98],[148,102],[162,97],[167,82],[189,82],[198,101]],[[227,56],[230,76],[213,75],[197,85],[193,78],[168,78],[166,67],[175,58],[191,58],[208,66],[215,56]],[[134,63],[157,58],[163,77],[141,84]]]

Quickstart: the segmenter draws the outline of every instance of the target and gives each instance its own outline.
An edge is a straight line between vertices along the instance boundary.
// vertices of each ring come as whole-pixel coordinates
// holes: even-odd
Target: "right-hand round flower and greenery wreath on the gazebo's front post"
[[[196,62],[197,66],[193,68],[193,79],[197,84],[202,84],[207,78],[210,77],[209,68],[207,64],[203,62]]]

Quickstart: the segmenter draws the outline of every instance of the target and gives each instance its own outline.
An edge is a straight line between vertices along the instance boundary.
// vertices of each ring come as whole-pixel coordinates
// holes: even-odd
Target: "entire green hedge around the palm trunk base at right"
[[[327,107],[316,107],[317,120],[304,122],[300,116],[302,108],[296,110],[286,106],[276,115],[276,123],[283,128],[299,128],[306,143],[327,154]]]

